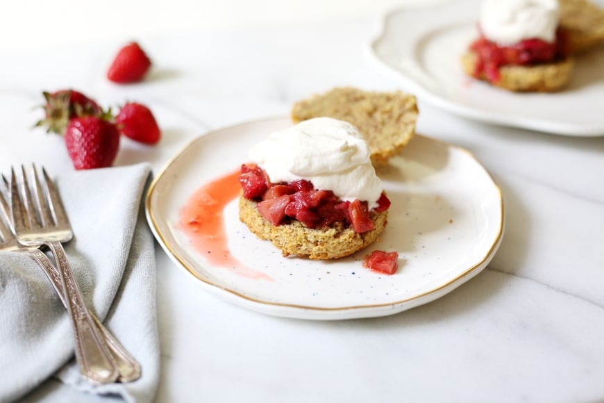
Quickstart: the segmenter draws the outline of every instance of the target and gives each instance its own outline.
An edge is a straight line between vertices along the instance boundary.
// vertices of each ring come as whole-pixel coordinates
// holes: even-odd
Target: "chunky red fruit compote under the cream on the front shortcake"
[[[273,225],[298,220],[308,228],[344,222],[356,233],[374,229],[367,201],[342,201],[331,190],[314,189],[310,181],[271,183],[262,168],[244,164],[239,182],[244,197],[258,201],[258,212]],[[390,201],[383,193],[374,211],[386,211],[389,206]]]

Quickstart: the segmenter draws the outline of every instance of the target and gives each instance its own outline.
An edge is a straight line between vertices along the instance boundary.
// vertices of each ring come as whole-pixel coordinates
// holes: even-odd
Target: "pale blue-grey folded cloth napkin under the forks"
[[[49,172],[52,174],[52,172]],[[142,199],[149,165],[56,178],[74,239],[65,250],[85,302],[141,363],[128,384],[93,386],[74,359],[65,308],[31,258],[0,252],[0,402],[151,402],[159,379],[156,267]]]

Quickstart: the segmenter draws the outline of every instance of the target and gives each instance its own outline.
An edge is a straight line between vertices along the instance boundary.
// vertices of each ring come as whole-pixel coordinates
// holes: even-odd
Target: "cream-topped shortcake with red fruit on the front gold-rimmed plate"
[[[284,256],[332,259],[374,242],[390,202],[352,124],[317,117],[272,133],[242,165],[240,220]]]

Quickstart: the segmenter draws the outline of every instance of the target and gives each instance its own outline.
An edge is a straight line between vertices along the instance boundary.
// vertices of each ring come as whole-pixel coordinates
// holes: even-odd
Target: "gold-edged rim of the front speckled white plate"
[[[176,265],[179,268],[181,268],[181,270],[184,270],[188,274],[191,274],[195,279],[199,280],[199,284],[202,285],[205,290],[209,290],[210,292],[212,292],[214,294],[219,294],[224,297],[228,297],[228,300],[230,302],[234,302],[235,304],[238,304],[240,306],[247,306],[250,309],[253,309],[253,311],[267,313],[269,315],[283,316],[283,317],[287,317],[287,318],[319,319],[319,320],[353,319],[353,318],[364,318],[367,316],[377,317],[377,316],[383,316],[383,315],[391,315],[394,313],[400,313],[401,311],[405,311],[406,309],[411,309],[414,306],[419,306],[421,304],[425,304],[427,302],[433,301],[434,299],[437,299],[440,296],[439,292],[442,292],[448,288],[451,288],[451,290],[453,290],[453,289],[457,288],[458,286],[461,286],[464,282],[466,282],[469,279],[471,279],[472,277],[476,276],[476,274],[480,273],[482,270],[484,270],[486,268],[486,266],[488,265],[488,263],[491,261],[492,257],[494,256],[495,252],[497,251],[499,245],[501,245],[503,233],[505,232],[505,208],[504,208],[504,199],[503,199],[503,193],[501,192],[501,188],[499,187],[498,183],[496,182],[496,180],[494,179],[492,174],[486,169],[486,167],[484,167],[484,165],[482,163],[480,163],[480,161],[478,161],[478,158],[476,158],[476,156],[474,156],[471,153],[471,151],[468,151],[467,149],[464,149],[463,147],[453,145],[449,142],[445,142],[445,141],[442,141],[442,140],[439,140],[436,138],[432,138],[432,137],[429,137],[426,135],[421,135],[419,133],[416,133],[415,135],[417,135],[417,136],[420,136],[423,138],[428,138],[428,140],[433,140],[435,142],[439,142],[442,145],[446,145],[446,147],[452,147],[452,148],[458,149],[458,151],[464,152],[464,154],[467,154],[467,156],[469,156],[469,158],[473,159],[473,161],[478,165],[478,167],[480,167],[484,170],[485,174],[487,174],[488,178],[492,181],[494,189],[496,190],[497,195],[498,195],[500,220],[498,222],[499,229],[498,229],[497,236],[495,237],[494,241],[492,242],[492,245],[489,247],[485,256],[483,256],[483,258],[480,258],[480,260],[477,263],[471,265],[471,267],[465,269],[463,272],[458,274],[455,278],[450,279],[446,283],[442,283],[439,286],[432,288],[430,290],[423,291],[417,295],[412,295],[411,297],[406,297],[404,299],[397,299],[394,302],[387,302],[387,303],[383,303],[383,304],[360,304],[360,305],[353,305],[353,306],[321,307],[321,306],[306,306],[306,305],[302,305],[302,304],[287,304],[287,303],[283,303],[283,302],[265,301],[263,299],[258,299],[258,298],[250,297],[248,295],[244,295],[242,293],[237,292],[236,290],[231,290],[227,287],[220,286],[219,284],[213,283],[212,281],[209,281],[208,279],[204,279],[204,278],[200,277],[198,274],[196,274],[196,272],[187,265],[187,263],[184,261],[184,259],[181,256],[179,256],[179,254],[176,252],[176,250],[174,248],[174,245],[169,245],[169,242],[167,242],[166,237],[162,233],[162,231],[160,229],[160,225],[158,224],[158,220],[156,220],[156,217],[152,211],[151,204],[152,204],[152,199],[153,199],[153,193],[156,190],[158,183],[160,182],[162,177],[166,174],[167,170],[169,170],[169,168],[174,163],[176,163],[178,158],[181,155],[183,155],[185,153],[185,151],[187,151],[187,149],[192,147],[196,142],[203,141],[203,139],[205,139],[208,136],[219,135],[219,133],[221,133],[222,131],[227,131],[227,130],[230,131],[233,129],[237,129],[237,127],[248,126],[250,124],[262,124],[265,122],[274,122],[277,120],[288,120],[288,119],[289,119],[289,117],[287,117],[287,116],[265,117],[265,118],[256,119],[256,120],[248,120],[246,122],[240,122],[240,123],[232,124],[232,125],[228,125],[228,126],[221,126],[217,129],[210,129],[207,132],[192,139],[190,142],[187,143],[187,145],[185,145],[180,151],[178,151],[172,158],[170,158],[169,161],[167,161],[167,163],[165,163],[165,165],[162,167],[160,172],[158,172],[158,174],[156,174],[156,176],[153,177],[153,180],[149,184],[149,188],[146,190],[145,203],[144,203],[145,216],[146,216],[147,223],[149,224],[149,227],[151,229],[151,232],[153,233],[153,236],[155,236],[156,240],[158,241],[158,243],[160,244],[162,249],[164,249],[164,251],[169,256],[169,258],[171,258],[171,260],[174,261],[176,263]],[[430,297],[430,296],[432,296],[432,298],[426,298],[426,297]],[[237,302],[237,299],[242,299],[242,301]],[[423,299],[426,299],[426,300],[424,302],[421,302]],[[417,301],[420,303],[416,304],[416,305],[408,306],[406,308],[404,307],[405,304],[407,304],[408,302],[412,302],[412,301]],[[245,302],[245,304],[242,304],[241,302]],[[398,306],[399,309],[394,309],[396,306]],[[355,314],[355,313],[367,313],[374,309],[384,309],[387,307],[392,307],[392,310],[387,311],[385,313],[372,313],[370,315]],[[333,315],[330,315],[330,313],[333,313]],[[340,315],[337,315],[337,313],[340,313]],[[319,315],[320,317],[317,315]]]

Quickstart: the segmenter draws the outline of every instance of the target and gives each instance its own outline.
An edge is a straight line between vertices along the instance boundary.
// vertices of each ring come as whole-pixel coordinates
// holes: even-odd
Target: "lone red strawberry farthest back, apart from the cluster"
[[[142,80],[149,67],[151,60],[136,42],[131,42],[117,52],[107,78],[119,84],[135,83]]]

